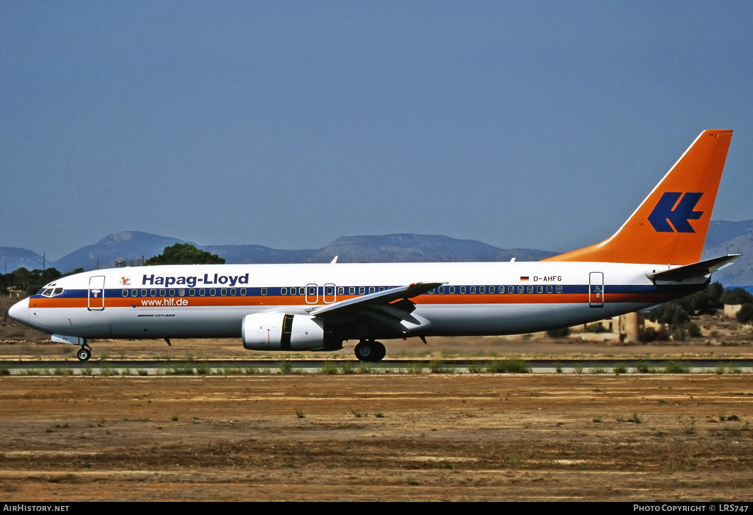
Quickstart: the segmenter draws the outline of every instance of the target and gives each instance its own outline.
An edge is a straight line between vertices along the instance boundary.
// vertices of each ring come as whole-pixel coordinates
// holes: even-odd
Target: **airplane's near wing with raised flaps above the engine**
[[[445,283],[415,282],[407,286],[315,307],[309,311],[309,315],[335,323],[367,321],[368,325],[377,326],[384,331],[407,334],[408,331],[414,329],[410,327],[411,325],[420,328],[428,326],[428,321],[424,318],[411,315],[416,309],[416,304],[410,299],[443,284]]]

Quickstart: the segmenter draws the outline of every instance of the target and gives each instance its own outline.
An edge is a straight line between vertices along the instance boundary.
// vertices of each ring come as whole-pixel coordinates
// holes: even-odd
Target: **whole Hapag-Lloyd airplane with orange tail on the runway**
[[[208,264],[92,270],[50,282],[8,314],[81,347],[93,339],[240,338],[245,349],[380,361],[378,340],[525,334],[700,291],[739,254],[700,261],[731,130],[695,139],[608,239],[543,261]]]

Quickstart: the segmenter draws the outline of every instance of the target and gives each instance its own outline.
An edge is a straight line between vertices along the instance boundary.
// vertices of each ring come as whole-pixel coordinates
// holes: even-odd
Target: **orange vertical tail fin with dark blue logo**
[[[731,130],[703,131],[611,238],[544,261],[699,261],[730,139]]]

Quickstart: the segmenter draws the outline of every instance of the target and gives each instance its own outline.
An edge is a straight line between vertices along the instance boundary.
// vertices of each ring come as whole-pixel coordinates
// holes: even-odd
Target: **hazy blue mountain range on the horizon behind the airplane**
[[[62,273],[76,268],[94,270],[142,263],[160,254],[174,243],[191,243],[184,239],[160,236],[140,231],[114,233],[72,251],[45,267],[55,267]],[[539,261],[559,252],[535,248],[498,248],[474,239],[455,239],[449,236],[426,234],[386,234],[383,236],[343,236],[322,248],[282,250],[264,245],[196,245],[224,257],[229,264],[245,263],[328,263],[334,256],[340,263],[389,263],[435,261]],[[703,258],[723,254],[743,254],[733,266],[719,270],[714,279],[727,287],[753,285],[753,220],[730,222],[712,221],[706,236]],[[25,267],[41,268],[42,256],[26,248],[0,247],[3,271]]]

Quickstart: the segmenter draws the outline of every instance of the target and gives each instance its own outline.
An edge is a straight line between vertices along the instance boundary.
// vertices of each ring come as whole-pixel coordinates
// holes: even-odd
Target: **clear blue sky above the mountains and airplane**
[[[143,230],[319,248],[430,233],[567,251],[735,130],[753,2],[0,2],[0,246]]]

